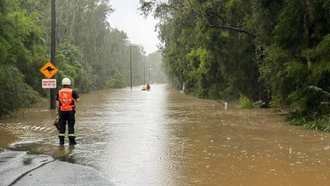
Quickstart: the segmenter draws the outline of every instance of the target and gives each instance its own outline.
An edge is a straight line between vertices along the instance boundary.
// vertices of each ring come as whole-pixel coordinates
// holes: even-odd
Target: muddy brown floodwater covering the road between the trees
[[[80,95],[76,146],[58,145],[55,110],[24,109],[0,120],[0,148],[91,166],[117,186],[330,185],[329,133],[151,88]]]

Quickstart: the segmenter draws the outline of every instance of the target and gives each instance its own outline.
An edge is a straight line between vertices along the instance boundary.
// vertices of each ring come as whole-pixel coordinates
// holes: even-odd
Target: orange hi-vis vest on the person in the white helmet
[[[63,88],[58,92],[58,100],[60,101],[60,110],[69,111],[75,110],[74,98],[72,97],[72,89]]]

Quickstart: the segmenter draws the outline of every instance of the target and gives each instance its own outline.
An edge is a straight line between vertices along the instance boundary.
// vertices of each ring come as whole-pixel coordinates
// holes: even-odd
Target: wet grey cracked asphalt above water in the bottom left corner
[[[93,168],[27,152],[0,153],[0,186],[112,186]]]

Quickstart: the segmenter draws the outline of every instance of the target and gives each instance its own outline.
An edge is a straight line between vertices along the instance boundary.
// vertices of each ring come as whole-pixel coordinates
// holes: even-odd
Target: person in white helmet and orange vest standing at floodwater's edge
[[[80,98],[78,93],[70,88],[71,80],[69,78],[63,78],[62,85],[63,88],[56,96],[57,114],[60,115],[60,131],[58,138],[60,139],[60,145],[64,145],[67,122],[69,145],[76,145],[76,136],[74,135],[76,105],[74,102],[79,102]]]

